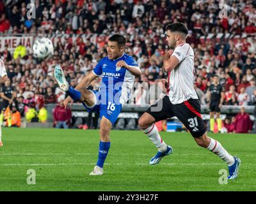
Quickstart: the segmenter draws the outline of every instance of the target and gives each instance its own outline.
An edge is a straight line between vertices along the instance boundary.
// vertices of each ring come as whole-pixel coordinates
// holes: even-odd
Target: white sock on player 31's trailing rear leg
[[[207,149],[209,149],[211,152],[213,152],[214,154],[217,154],[218,157],[220,157],[223,161],[225,161],[225,163],[228,164],[228,166],[232,166],[235,163],[235,159],[233,156],[231,156],[227,150],[225,150],[221,143],[210,138],[211,142],[209,144],[209,146],[207,147]]]

